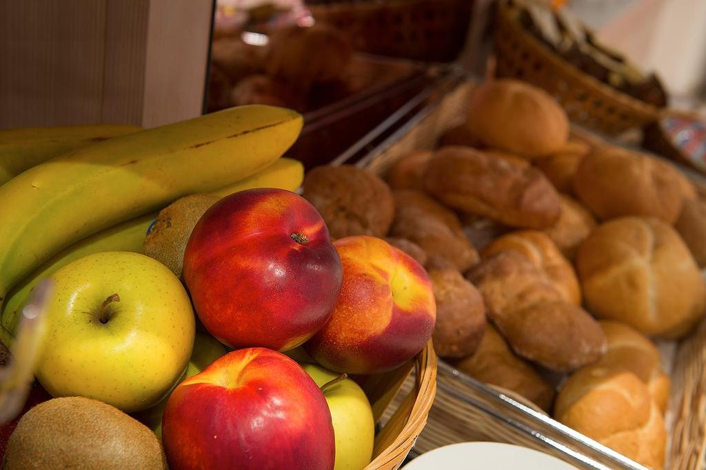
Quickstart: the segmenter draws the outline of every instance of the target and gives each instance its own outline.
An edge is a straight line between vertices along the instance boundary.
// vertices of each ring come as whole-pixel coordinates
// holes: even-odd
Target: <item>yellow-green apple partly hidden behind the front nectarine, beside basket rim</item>
[[[341,374],[316,364],[304,364],[316,385],[322,388],[333,421],[336,442],[334,470],[360,470],[370,463],[375,438],[373,410],[365,393],[353,380],[333,383]],[[330,383],[332,382],[332,383]],[[326,386],[325,384],[330,383]]]

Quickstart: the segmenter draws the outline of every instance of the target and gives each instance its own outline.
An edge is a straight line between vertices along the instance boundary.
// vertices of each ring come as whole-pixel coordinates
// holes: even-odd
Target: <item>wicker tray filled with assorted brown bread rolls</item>
[[[516,80],[418,116],[359,159],[378,186],[347,209],[377,220],[384,182],[387,235],[433,283],[443,360],[414,452],[497,440],[579,468],[702,468],[706,179],[572,128]]]

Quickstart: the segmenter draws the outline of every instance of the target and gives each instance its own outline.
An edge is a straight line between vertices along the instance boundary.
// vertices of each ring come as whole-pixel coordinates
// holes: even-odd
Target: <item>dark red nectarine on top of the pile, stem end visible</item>
[[[287,351],[330,317],[342,267],[313,205],[291,191],[251,189],[198,221],[184,280],[198,318],[221,342]]]

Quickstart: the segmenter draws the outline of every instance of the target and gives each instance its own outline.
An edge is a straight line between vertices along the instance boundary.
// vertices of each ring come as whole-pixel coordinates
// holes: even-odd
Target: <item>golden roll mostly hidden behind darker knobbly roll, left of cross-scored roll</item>
[[[483,256],[514,250],[544,272],[564,301],[581,305],[581,289],[573,266],[564,258],[554,241],[541,231],[514,231],[501,236],[483,250]]]

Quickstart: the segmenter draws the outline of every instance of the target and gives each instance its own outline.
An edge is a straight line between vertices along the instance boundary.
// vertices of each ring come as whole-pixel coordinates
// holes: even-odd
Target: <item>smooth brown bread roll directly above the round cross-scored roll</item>
[[[673,224],[681,211],[683,176],[660,159],[604,146],[582,159],[574,191],[599,219],[657,217]]]

